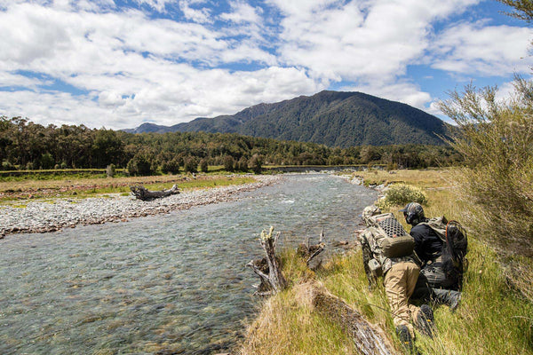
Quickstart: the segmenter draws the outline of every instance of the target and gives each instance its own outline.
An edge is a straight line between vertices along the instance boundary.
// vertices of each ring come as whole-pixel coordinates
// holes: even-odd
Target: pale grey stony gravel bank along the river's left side
[[[0,238],[12,233],[55,232],[76,225],[125,222],[129,218],[169,213],[209,203],[235,201],[239,193],[273,184],[282,177],[256,176],[255,183],[182,192],[154,201],[133,195],[87,199],[20,201],[19,207],[0,206]]]

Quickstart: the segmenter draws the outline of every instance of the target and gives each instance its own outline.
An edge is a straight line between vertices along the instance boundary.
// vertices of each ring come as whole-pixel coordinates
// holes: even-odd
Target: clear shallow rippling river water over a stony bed
[[[0,240],[0,354],[213,354],[258,312],[259,233],[353,240],[377,193],[327,174],[129,222]]]

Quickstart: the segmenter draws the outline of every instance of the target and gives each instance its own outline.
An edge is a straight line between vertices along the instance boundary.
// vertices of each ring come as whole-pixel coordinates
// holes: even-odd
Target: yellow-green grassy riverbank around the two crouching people
[[[428,197],[426,216],[444,214],[465,224],[467,216],[454,198],[451,174],[452,170],[406,170],[396,174],[370,171],[357,175],[362,175],[370,184],[417,185]],[[393,207],[391,211],[399,208]],[[354,218],[357,218],[355,213]],[[403,218],[398,219],[403,222]],[[469,243],[470,267],[465,273],[462,302],[454,313],[446,306],[435,309],[438,335],[433,340],[418,335],[418,350],[422,354],[533,354],[533,304],[509,286],[497,256],[479,236],[469,234]],[[291,251],[284,252],[283,262],[291,287],[263,304],[238,352],[259,355],[356,353],[354,343],[338,325],[323,319],[301,302],[299,285],[309,280],[321,282],[332,294],[342,297],[370,322],[382,327],[401,351],[394,336],[384,289],[379,285],[369,291],[360,250],[338,256],[316,273],[307,271],[305,264]]]

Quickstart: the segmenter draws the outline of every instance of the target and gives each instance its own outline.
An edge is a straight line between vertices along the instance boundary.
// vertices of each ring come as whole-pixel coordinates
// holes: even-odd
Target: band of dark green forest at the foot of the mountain
[[[134,175],[207,170],[259,170],[262,165],[386,164],[389,168],[449,166],[461,157],[449,146],[329,147],[252,138],[233,133],[132,134],[84,125],[43,126],[21,117],[0,117],[2,170],[106,168]]]

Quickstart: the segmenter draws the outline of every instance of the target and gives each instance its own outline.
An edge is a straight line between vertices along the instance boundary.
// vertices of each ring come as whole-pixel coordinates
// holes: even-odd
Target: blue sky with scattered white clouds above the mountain
[[[119,130],[362,91],[447,120],[512,91],[533,31],[492,0],[0,0],[0,115]]]

